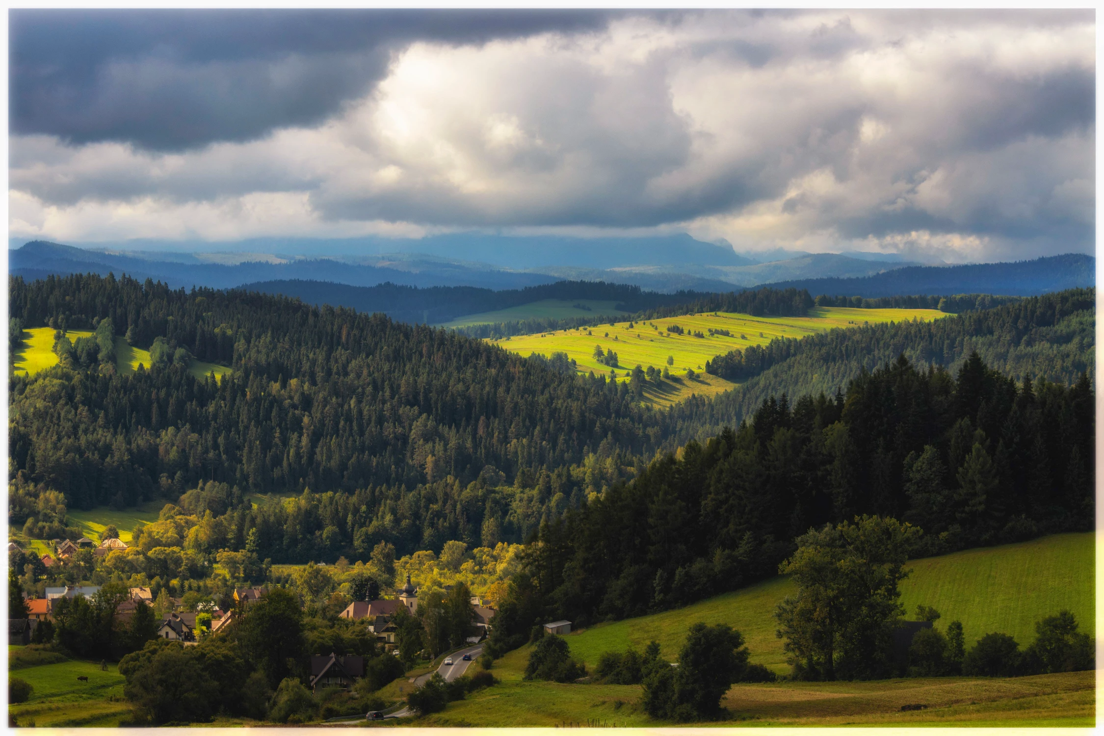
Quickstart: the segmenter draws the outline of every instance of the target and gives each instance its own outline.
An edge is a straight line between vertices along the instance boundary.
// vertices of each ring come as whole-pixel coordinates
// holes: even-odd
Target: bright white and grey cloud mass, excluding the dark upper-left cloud
[[[9,228],[678,227],[953,260],[1083,248],[1094,33],[1091,13],[705,12],[418,42],[314,128],[179,153],[14,137]]]

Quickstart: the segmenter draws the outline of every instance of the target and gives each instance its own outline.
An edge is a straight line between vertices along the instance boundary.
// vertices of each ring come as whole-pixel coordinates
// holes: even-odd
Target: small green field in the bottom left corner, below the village
[[[9,651],[13,648],[9,648]],[[10,675],[22,678],[34,687],[26,703],[10,705],[8,711],[19,725],[35,726],[100,726],[115,727],[130,714],[123,697],[123,675],[118,666],[71,660],[59,664],[12,670]],[[81,682],[78,676],[88,678]]]

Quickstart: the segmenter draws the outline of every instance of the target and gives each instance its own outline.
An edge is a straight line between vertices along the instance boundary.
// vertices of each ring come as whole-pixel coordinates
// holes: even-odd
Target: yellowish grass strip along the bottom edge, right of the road
[[[639,705],[639,685],[560,684],[522,680],[531,646],[509,652],[491,672],[501,683],[412,726],[666,726]],[[474,670],[475,668],[473,668]],[[901,712],[923,703],[923,711]],[[879,682],[739,684],[722,704],[732,721],[716,726],[1004,725],[1092,726],[1093,672],[1033,678],[936,678]]]

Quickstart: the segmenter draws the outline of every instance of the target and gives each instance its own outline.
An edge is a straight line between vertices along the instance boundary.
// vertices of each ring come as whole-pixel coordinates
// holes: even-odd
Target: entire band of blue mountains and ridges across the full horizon
[[[426,238],[431,241],[426,247],[439,249],[444,247],[443,244],[450,243],[456,248],[454,253],[473,255],[469,249],[459,249],[461,243],[457,239],[458,236],[450,237],[453,239],[446,239],[445,236]],[[555,253],[558,257],[565,252],[555,249],[556,242],[561,245],[564,242],[571,245],[573,242],[572,238],[548,239],[548,253]],[[646,239],[648,238],[631,242],[639,244]],[[564,279],[607,282],[593,287],[598,290],[607,285],[620,284],[658,294],[703,294],[728,292],[765,284],[778,288],[805,288],[814,296],[828,294],[863,297],[978,292],[1032,296],[1095,284],[1095,259],[1079,254],[1032,262],[969,266],[902,265],[884,259],[857,258],[853,257],[856,254],[804,254],[788,260],[751,264],[732,253],[728,246],[701,243],[689,236],[651,239],[656,243],[643,247],[639,250],[643,255],[639,257],[666,258],[678,263],[625,265],[623,260],[631,257],[627,246],[623,247],[624,243],[607,242],[605,238],[588,243],[592,250],[603,250],[609,246],[608,253],[601,256],[580,253],[580,258],[591,263],[614,264],[622,259],[620,265],[608,268],[554,266],[528,270],[425,253],[338,253],[320,257],[317,254],[287,256],[261,250],[118,252],[33,241],[9,252],[9,269],[11,274],[26,279],[43,278],[50,274],[92,271],[100,275],[115,273],[117,276],[126,273],[138,279],[151,278],[172,287],[184,288],[234,288],[248,285],[250,288],[299,297],[312,303],[346,306],[361,311],[385,311],[404,321],[431,322],[522,303],[517,299],[526,298],[526,292],[518,291],[519,289],[551,285]],[[629,242],[630,238],[625,241]],[[393,247],[396,241],[385,243]],[[404,243],[424,245],[425,241]],[[493,243],[500,244],[500,241]],[[502,257],[500,249],[496,252],[496,256],[488,248],[490,246],[482,250],[474,247],[475,255],[498,257],[500,264],[508,260]],[[680,256],[680,259],[673,258],[672,253]],[[701,262],[694,262],[693,258],[699,256]],[[511,263],[514,267],[524,266],[527,258],[537,257],[540,254],[528,253],[514,257]],[[860,277],[854,278],[856,276]],[[496,297],[496,291],[510,294]],[[532,300],[544,298],[549,296],[534,296]],[[609,297],[581,292],[571,298]]]

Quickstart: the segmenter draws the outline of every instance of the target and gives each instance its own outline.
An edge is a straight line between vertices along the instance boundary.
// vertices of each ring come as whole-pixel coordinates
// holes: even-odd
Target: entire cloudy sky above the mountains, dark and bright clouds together
[[[10,237],[1094,252],[1091,10],[9,18]]]

